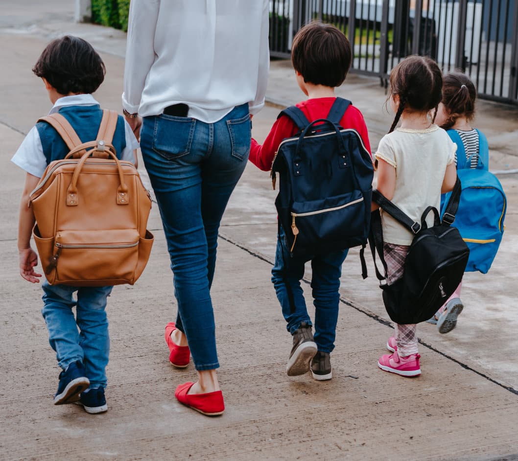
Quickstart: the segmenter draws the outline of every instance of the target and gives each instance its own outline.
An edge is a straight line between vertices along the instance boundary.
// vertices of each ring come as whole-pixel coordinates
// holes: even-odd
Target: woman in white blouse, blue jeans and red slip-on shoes
[[[264,105],[268,14],[266,0],[130,7],[122,102],[140,132],[174,272],[169,360],[185,367],[192,355],[198,372],[175,395],[207,415],[224,411],[210,297],[218,228],[247,163],[251,114]]]

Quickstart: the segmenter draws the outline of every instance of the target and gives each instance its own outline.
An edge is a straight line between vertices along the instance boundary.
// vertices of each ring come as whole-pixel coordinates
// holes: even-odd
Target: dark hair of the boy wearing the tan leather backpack
[[[106,73],[103,60],[92,45],[70,35],[52,40],[32,70],[59,94],[93,93]]]

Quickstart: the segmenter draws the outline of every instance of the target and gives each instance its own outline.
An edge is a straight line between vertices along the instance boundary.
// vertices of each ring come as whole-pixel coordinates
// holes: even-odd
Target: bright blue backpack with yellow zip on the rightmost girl
[[[506,217],[507,199],[500,181],[488,171],[489,149],[486,137],[479,134],[479,160],[477,168],[470,168],[471,158],[466,156],[461,137],[454,129],[447,133],[457,145],[457,176],[462,183],[462,194],[453,222],[469,248],[466,272],[486,273],[493,263],[503,235],[503,220]],[[445,203],[451,193],[442,197],[443,220]]]

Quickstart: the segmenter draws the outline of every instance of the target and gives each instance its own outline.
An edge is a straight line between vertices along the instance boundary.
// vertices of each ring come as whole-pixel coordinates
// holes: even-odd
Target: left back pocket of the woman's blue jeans
[[[155,118],[153,150],[167,160],[191,151],[196,120],[190,117],[160,115]]]

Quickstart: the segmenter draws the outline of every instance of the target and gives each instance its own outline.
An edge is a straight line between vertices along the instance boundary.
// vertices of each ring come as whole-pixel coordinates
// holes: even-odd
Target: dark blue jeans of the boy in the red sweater
[[[332,352],[335,348],[336,324],[340,294],[342,263],[348,250],[323,255],[290,255],[286,246],[284,230],[279,225],[275,266],[271,270],[277,297],[281,303],[282,314],[286,319],[287,330],[293,335],[301,322],[311,325],[306,301],[300,286],[304,277],[304,264],[311,261],[311,288],[315,306],[314,340],[321,352]]]

